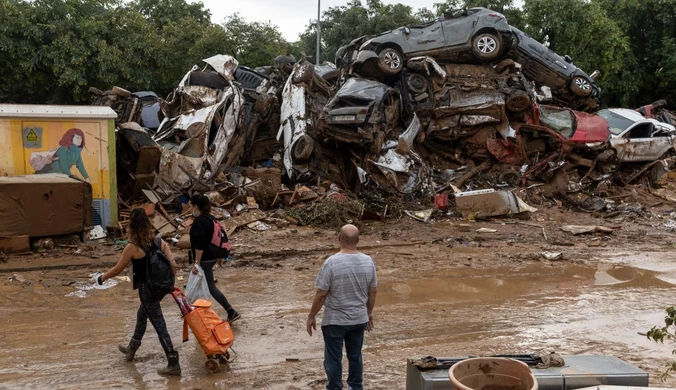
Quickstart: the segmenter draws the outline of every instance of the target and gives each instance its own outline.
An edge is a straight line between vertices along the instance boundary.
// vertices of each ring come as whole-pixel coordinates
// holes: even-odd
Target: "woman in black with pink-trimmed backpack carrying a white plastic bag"
[[[211,215],[211,201],[206,196],[198,194],[190,198],[190,204],[193,207],[193,217],[195,217],[190,227],[190,246],[193,252],[193,259],[195,260],[195,264],[200,265],[204,270],[204,277],[209,285],[209,293],[223,306],[228,313],[228,322],[232,324],[240,319],[241,316],[232,308],[225,295],[214,283],[214,265],[221,265],[223,258],[219,258],[210,250],[215,225],[218,223]],[[227,240],[227,237],[225,237],[225,240]],[[197,267],[194,265],[192,273],[198,273]]]

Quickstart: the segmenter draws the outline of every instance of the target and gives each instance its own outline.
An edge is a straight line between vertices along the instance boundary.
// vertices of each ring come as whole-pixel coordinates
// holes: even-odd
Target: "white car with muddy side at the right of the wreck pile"
[[[610,127],[610,146],[621,162],[655,161],[674,152],[676,128],[643,117],[628,108],[608,108],[597,113]]]

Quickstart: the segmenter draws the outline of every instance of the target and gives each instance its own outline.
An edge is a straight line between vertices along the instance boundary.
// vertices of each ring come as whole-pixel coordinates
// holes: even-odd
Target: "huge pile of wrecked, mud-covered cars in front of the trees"
[[[599,110],[598,72],[485,8],[356,38],[335,64],[204,61],[166,99],[93,92],[119,114],[118,150],[131,150],[118,164],[127,198],[209,187],[238,166],[414,199],[552,181],[593,191],[673,163],[676,115],[664,101]]]

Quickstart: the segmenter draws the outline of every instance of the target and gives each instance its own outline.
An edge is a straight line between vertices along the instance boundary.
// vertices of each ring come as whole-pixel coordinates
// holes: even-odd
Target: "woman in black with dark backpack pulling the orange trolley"
[[[163,261],[169,261],[175,278],[176,262],[174,261],[174,256],[171,254],[169,245],[161,238],[155,237],[155,228],[150,223],[150,219],[143,208],[139,207],[132,210],[127,229],[129,244],[122,251],[120,260],[113,268],[100,275],[96,280],[101,285],[105,280],[119,275],[130,262],[132,264],[134,271],[133,288],[135,290],[138,289],[141,305],[136,313],[134,335],[129,340],[128,345],[120,345],[118,348],[125,355],[127,361],[134,360],[134,355],[141,346],[141,339],[146,332],[148,320],[150,320],[169,361],[167,367],[157,370],[157,373],[160,375],[181,375],[178,352],[174,350],[174,345],[167,330],[167,324],[164,321],[164,316],[162,316],[162,307],[160,306],[160,301],[167,293],[166,291],[156,292],[155,284],[149,283],[150,279],[148,278],[151,257],[155,256],[154,259],[157,261],[156,259],[161,256],[157,251],[161,251],[164,254],[165,259]],[[171,275],[169,275],[170,277]],[[165,284],[171,284],[173,287],[173,281],[168,281]]]

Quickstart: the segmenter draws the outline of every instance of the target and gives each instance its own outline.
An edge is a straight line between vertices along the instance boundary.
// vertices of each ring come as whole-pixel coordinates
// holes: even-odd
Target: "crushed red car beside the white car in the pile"
[[[557,106],[533,105],[533,109],[525,116],[528,125],[554,130],[574,144],[605,142],[610,138],[608,122],[596,114]]]

